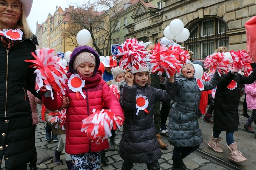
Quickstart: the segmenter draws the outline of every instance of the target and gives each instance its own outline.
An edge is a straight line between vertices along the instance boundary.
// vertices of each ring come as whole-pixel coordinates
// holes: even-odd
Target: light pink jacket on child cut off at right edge
[[[256,109],[256,81],[245,85],[245,93],[248,109]]]

